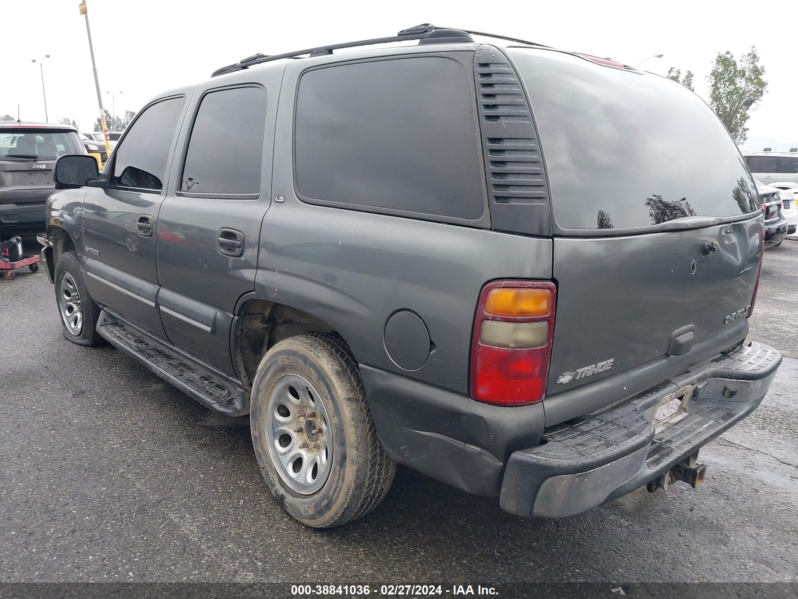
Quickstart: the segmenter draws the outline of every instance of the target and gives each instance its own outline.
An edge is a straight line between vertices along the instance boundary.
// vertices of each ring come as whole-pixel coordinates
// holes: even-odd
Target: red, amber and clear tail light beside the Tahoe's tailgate
[[[523,406],[543,399],[556,295],[551,281],[485,285],[474,319],[472,399],[500,406]]]

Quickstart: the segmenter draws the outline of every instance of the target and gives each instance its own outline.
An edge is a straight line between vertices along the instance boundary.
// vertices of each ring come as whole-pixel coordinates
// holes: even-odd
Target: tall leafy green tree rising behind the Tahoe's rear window
[[[764,66],[759,63],[757,48],[751,46],[740,60],[728,50],[715,57],[715,64],[707,76],[709,105],[726,125],[729,135],[737,144],[748,136],[749,111],[764,96],[768,82],[764,80]]]

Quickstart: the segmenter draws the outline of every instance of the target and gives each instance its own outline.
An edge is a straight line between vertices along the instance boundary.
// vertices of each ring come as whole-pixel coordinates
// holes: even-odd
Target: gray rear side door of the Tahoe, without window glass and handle
[[[230,331],[239,298],[255,286],[260,224],[271,197],[271,143],[264,144],[259,197],[203,196],[180,192],[183,161],[192,133],[192,117],[209,90],[257,83],[267,92],[266,130],[274,138],[277,100],[284,65],[217,77],[196,87],[176,142],[168,193],[158,217],[158,280],[166,303],[160,304],[168,339],[177,347],[229,375]],[[243,233],[240,257],[219,253],[219,230]],[[168,305],[167,305],[168,304]],[[165,308],[165,309],[164,309]]]

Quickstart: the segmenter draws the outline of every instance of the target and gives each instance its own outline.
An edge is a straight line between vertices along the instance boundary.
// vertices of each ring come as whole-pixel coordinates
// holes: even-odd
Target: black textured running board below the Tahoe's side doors
[[[229,418],[249,414],[249,399],[235,379],[124,322],[106,308],[97,319],[97,332],[212,411]]]

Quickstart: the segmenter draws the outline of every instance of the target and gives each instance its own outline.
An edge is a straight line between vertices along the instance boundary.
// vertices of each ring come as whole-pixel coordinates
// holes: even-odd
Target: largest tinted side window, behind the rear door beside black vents
[[[484,184],[468,73],[449,58],[316,69],[299,84],[306,198],[478,219]]]

